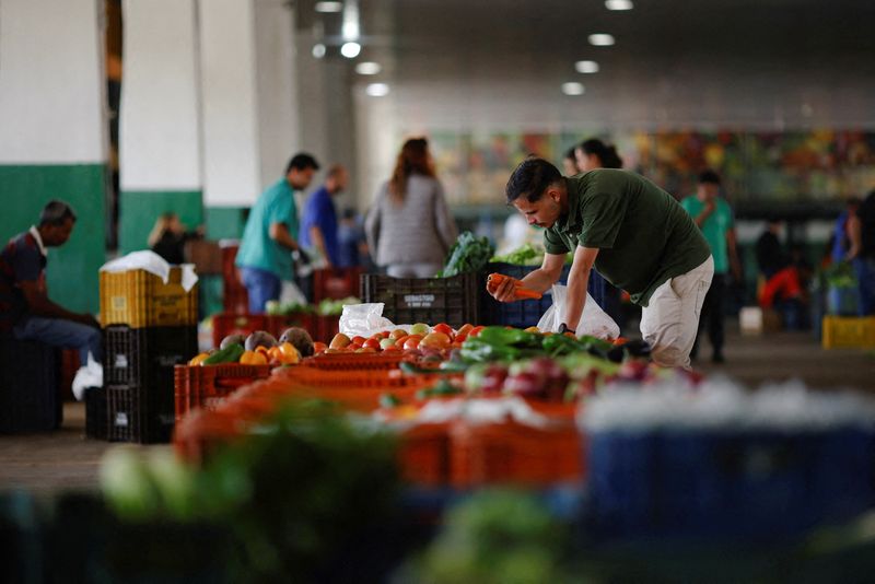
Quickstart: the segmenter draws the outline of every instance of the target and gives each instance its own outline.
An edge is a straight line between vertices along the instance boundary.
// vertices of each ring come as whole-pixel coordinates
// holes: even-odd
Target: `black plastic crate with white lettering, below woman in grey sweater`
[[[446,323],[460,327],[480,323],[479,273],[451,278],[392,278],[376,273],[361,277],[362,302],[385,304],[383,316],[396,324]]]

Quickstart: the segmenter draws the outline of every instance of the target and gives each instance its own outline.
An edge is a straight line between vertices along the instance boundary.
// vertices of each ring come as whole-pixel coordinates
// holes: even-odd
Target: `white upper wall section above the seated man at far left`
[[[58,4],[0,1],[0,163],[106,160],[101,4]]]

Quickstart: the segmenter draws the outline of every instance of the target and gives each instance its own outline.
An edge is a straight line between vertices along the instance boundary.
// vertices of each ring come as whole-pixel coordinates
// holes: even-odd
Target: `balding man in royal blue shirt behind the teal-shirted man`
[[[340,265],[340,249],[337,241],[337,210],[331,197],[347,188],[348,175],[339,164],[328,168],[325,185],[314,192],[306,207],[301,223],[301,245],[314,249],[324,259],[326,268]]]

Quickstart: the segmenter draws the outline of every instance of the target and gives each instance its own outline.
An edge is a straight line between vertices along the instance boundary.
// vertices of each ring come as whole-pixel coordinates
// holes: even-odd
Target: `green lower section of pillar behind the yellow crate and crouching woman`
[[[200,190],[122,190],[118,197],[118,252],[148,249],[155,220],[166,212],[179,215],[188,229],[203,223]]]

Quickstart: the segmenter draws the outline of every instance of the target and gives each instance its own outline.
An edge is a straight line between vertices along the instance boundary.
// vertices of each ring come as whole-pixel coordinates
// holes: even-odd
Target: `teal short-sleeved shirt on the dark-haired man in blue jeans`
[[[243,230],[243,240],[234,261],[242,268],[258,268],[282,280],[292,279],[291,250],[270,237],[271,223],[284,223],[298,240],[298,208],[294,191],[285,178],[268,188],[255,202]]]

